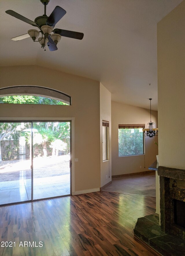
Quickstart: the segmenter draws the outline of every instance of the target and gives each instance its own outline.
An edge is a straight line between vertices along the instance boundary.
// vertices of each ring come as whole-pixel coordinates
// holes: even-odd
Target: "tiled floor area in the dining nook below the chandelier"
[[[112,178],[112,184],[102,191],[156,197],[156,174],[145,173]]]

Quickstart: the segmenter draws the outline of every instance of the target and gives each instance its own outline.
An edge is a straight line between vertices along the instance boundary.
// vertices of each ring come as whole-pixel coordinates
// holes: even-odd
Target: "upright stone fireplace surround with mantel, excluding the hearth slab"
[[[161,230],[185,240],[185,170],[159,167]]]

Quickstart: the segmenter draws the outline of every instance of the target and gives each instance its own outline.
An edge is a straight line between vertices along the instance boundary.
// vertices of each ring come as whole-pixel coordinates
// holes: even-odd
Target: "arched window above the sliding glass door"
[[[71,97],[41,86],[12,86],[0,89],[0,103],[71,105]]]

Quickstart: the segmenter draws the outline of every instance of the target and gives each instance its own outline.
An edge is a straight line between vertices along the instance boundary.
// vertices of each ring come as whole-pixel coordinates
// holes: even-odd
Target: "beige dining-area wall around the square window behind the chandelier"
[[[150,102],[149,102],[150,103]],[[157,128],[157,111],[151,112],[151,120]],[[119,124],[145,124],[148,127],[150,110],[138,108],[112,101],[112,175],[148,171],[148,167],[156,160],[158,155],[158,136],[145,137],[145,155],[118,156],[118,125]],[[141,166],[141,169],[140,169]],[[144,168],[145,167],[145,168]]]

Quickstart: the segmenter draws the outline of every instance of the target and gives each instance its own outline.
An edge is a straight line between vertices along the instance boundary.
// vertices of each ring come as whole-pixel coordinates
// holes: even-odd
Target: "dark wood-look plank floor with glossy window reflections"
[[[155,198],[95,192],[0,207],[1,256],[156,256],[132,235],[139,217],[155,213]],[[18,247],[42,241],[42,247]],[[1,243],[2,244],[2,243]]]

